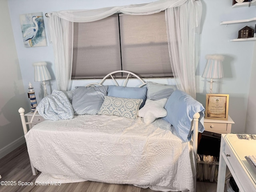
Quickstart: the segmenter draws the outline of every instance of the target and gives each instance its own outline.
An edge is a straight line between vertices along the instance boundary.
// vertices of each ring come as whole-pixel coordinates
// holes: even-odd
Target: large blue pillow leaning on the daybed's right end
[[[195,113],[200,114],[198,131],[204,131],[204,106],[183,91],[175,90],[168,98],[164,108],[167,116],[162,119],[168,121],[184,142],[191,140],[191,122]]]

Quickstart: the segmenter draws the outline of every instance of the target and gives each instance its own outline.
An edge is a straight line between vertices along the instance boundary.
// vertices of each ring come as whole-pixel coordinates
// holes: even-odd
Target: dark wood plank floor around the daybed
[[[16,185],[0,185],[0,192],[156,192],[133,185],[106,184],[100,182],[79,182],[61,185],[35,185],[36,176],[32,175],[26,144],[0,159],[0,181],[16,182]],[[21,186],[21,182],[33,185]],[[15,183],[12,183],[15,184]],[[216,192],[216,183],[197,182],[196,192]]]

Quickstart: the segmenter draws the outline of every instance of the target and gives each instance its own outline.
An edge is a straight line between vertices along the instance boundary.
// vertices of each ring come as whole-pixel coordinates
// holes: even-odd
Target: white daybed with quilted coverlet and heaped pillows
[[[126,79],[123,80],[123,86],[119,86],[116,81],[114,74],[117,72],[127,73]],[[87,86],[101,87],[108,77],[115,84],[114,86],[108,85],[108,92],[104,96],[102,104],[98,106],[100,110],[97,109],[96,114],[94,112],[79,114],[81,93],[78,94],[78,98],[75,97],[75,94],[73,95],[71,105],[73,105],[74,116],[71,117],[67,117],[69,114],[61,114],[60,118],[51,116],[52,120],[36,124],[33,122],[33,117],[30,122],[26,122],[24,109],[19,109],[33,175],[37,173],[37,170],[42,172],[37,181],[44,183],[90,180],[133,184],[141,188],[149,187],[152,190],[164,192],[193,192],[196,183],[198,130],[200,132],[204,130],[202,104],[179,90],[174,90],[169,98],[153,100],[152,98],[159,96],[166,97],[165,85],[144,82],[132,72],[117,72],[108,74],[100,83]],[[130,77],[138,79],[140,82],[138,88],[146,87],[146,99],[127,98],[138,93],[137,88],[126,87]],[[161,86],[165,91],[159,94],[161,89],[158,88]],[[75,91],[78,89],[76,88]],[[111,93],[114,96],[116,93],[121,96],[110,96]],[[68,95],[65,95],[67,96],[65,99],[68,100]],[[61,96],[57,95],[56,98]],[[46,119],[49,119],[46,114],[46,109],[49,110],[49,106],[46,107],[41,103],[43,100],[49,102],[50,97],[51,95],[47,96],[38,104],[38,111],[41,110],[40,115],[42,114]],[[82,97],[84,97],[83,92]],[[175,101],[170,101],[171,97]],[[116,99],[113,103],[118,104],[120,100],[122,102],[126,102],[126,100],[131,102],[132,100],[132,102],[140,104],[137,105],[138,109],[135,115],[133,115],[133,111],[124,115],[117,112],[109,114],[109,109],[112,108],[112,106],[106,107],[106,104],[110,103],[109,99],[111,101]],[[76,103],[77,101],[78,103]],[[143,102],[144,106],[142,107]],[[40,104],[42,108],[40,108]],[[161,110],[154,108],[154,106],[159,108],[161,105]],[[75,106],[79,109],[75,109]],[[168,106],[172,106],[171,109]],[[175,113],[173,112],[174,107],[177,107]],[[70,106],[68,108],[66,104],[62,108],[70,110]],[[165,109],[167,115],[161,115],[161,112],[164,111],[162,109]],[[87,108],[87,110],[92,109]],[[120,108],[120,110],[124,110],[124,108]],[[152,113],[149,113],[150,110]],[[53,111],[54,109],[51,113]],[[158,118],[155,117],[156,115],[152,115],[156,111],[157,115],[162,117]],[[181,132],[178,119],[182,119],[182,123],[187,126]],[[28,124],[36,125],[28,130]]]

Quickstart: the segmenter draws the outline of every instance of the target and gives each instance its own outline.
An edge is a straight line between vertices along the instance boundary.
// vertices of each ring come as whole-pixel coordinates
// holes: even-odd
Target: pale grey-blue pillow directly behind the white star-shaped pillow
[[[177,87],[175,85],[165,85],[148,81],[147,89],[147,99],[160,100],[169,98]]]

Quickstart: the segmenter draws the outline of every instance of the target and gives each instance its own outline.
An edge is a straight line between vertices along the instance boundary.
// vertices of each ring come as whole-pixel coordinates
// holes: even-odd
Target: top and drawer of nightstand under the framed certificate
[[[228,120],[215,120],[204,118],[205,130],[214,133],[228,134],[231,132],[232,124],[234,124],[234,121],[231,119],[230,116],[228,116]]]

